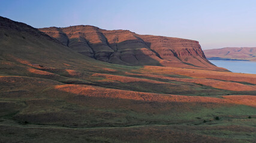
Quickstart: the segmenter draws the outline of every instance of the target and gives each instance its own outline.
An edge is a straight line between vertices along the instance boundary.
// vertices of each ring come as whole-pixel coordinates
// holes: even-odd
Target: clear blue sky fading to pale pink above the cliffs
[[[256,47],[255,0],[0,0],[0,16],[35,28],[83,24],[192,39],[203,49]]]

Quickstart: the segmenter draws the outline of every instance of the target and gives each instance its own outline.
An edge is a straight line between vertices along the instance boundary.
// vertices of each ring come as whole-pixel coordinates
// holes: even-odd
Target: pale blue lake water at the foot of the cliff
[[[234,73],[256,74],[255,61],[228,61],[228,60],[209,60],[218,67],[224,67]]]

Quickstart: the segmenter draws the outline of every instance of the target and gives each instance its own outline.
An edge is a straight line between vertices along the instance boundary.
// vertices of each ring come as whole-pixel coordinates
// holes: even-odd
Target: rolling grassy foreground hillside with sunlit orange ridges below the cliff
[[[254,142],[255,93],[256,74],[111,64],[0,17],[0,142]]]

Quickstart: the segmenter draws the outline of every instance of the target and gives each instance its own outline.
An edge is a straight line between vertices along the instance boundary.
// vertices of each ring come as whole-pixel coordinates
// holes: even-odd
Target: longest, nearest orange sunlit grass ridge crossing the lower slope
[[[197,96],[191,97],[184,95],[152,94],[147,92],[124,91],[119,89],[100,88],[97,86],[88,85],[57,85],[55,86],[55,89],[58,91],[64,91],[76,95],[83,95],[86,97],[120,98],[149,102],[204,102],[217,104],[243,104],[256,107],[256,97],[249,95],[233,95],[227,97],[224,96],[224,98]]]

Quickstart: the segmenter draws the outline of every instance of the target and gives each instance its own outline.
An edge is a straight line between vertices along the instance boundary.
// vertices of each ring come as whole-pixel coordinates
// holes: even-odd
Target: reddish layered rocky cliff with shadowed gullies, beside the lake
[[[82,25],[39,30],[80,54],[109,63],[216,69],[206,60],[199,43],[188,39]]]

